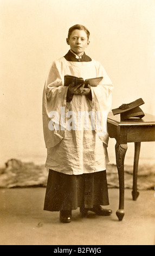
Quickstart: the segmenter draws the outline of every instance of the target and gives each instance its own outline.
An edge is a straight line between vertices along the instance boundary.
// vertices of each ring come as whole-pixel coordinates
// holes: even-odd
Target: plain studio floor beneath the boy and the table
[[[81,218],[73,211],[72,222],[59,221],[59,212],[43,211],[46,188],[0,190],[0,245],[154,245],[154,191],[140,191],[137,202],[125,191],[125,216],[119,222],[119,190],[109,189],[109,217],[89,212]]]

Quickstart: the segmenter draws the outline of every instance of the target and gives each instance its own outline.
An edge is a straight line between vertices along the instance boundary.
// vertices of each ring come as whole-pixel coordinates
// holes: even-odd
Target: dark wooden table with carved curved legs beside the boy
[[[137,174],[141,142],[155,141],[155,117],[145,114],[143,119],[132,118],[120,121],[120,115],[109,113],[107,119],[107,129],[110,138],[115,138],[116,162],[119,175],[119,210],[116,212],[119,221],[125,215],[124,211],[124,160],[127,151],[127,143],[135,143],[134,168],[133,168],[133,200],[137,200]]]

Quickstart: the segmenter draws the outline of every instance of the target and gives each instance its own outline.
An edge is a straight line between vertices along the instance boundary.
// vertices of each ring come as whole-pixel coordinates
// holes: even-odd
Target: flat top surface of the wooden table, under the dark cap
[[[109,112],[107,123],[116,125],[116,126],[155,126],[155,116],[151,114],[146,114],[144,118],[130,118],[127,120],[120,120],[120,114],[113,115],[112,112]]]

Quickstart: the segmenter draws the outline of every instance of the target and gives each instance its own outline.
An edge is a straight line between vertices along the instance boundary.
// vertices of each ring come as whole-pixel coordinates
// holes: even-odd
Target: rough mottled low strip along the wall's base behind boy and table
[[[132,188],[133,166],[125,166],[125,188]],[[139,166],[138,189],[149,190],[155,186],[154,166]],[[48,169],[44,165],[33,162],[24,163],[17,159],[10,159],[5,163],[5,168],[0,169],[0,187],[46,187]],[[107,166],[107,181],[109,188],[118,188],[118,171],[115,164]]]

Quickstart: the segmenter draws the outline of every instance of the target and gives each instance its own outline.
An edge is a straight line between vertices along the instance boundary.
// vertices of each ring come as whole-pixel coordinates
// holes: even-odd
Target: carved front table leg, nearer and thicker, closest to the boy
[[[124,160],[125,154],[127,151],[127,144],[116,144],[115,153],[116,161],[119,175],[119,210],[116,212],[116,215],[119,221],[122,221],[122,218],[125,215],[124,211]]]

